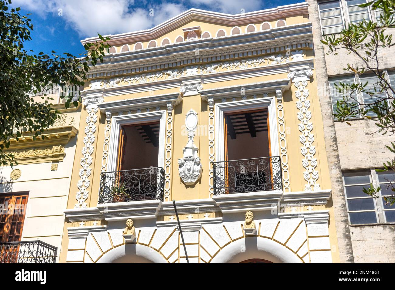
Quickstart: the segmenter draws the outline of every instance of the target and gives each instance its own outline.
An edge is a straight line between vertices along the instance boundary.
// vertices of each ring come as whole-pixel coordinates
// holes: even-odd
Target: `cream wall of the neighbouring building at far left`
[[[80,109],[67,114],[67,120],[73,117],[73,126],[78,128]],[[77,136],[63,145],[65,156],[58,163],[57,170],[51,170],[50,162],[14,165],[13,168],[0,167],[0,193],[28,192],[22,241],[40,240],[57,247],[59,253],[64,224],[63,211],[67,207],[76,142]],[[17,180],[9,177],[14,169],[21,170],[21,177]],[[59,261],[59,255],[56,261]]]

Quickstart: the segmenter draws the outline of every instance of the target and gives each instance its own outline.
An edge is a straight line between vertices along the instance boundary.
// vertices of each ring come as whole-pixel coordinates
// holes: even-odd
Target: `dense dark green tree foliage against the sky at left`
[[[12,167],[17,162],[7,151],[10,138],[19,140],[23,132],[34,133],[34,139],[44,138],[45,129],[59,117],[45,94],[51,87],[60,88],[66,108],[77,107],[79,88],[87,80],[89,67],[103,61],[109,39],[99,34],[100,41],[86,44],[86,52],[79,57],[26,51],[24,43],[32,40],[33,24],[29,14],[21,15],[20,8],[11,9],[9,4],[11,0],[0,0],[0,165]],[[31,97],[35,94],[42,95],[40,101]]]

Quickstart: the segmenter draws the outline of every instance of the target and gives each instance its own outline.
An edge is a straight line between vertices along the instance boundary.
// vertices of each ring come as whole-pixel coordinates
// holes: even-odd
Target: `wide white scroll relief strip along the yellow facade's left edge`
[[[86,101],[86,100],[85,100]],[[83,101],[83,104],[88,102]],[[95,123],[98,120],[97,112],[98,107],[94,105],[94,107],[88,107],[87,109],[88,116],[85,120],[87,126],[85,127],[85,137],[84,137],[84,147],[82,148],[82,155],[80,164],[81,169],[79,170],[80,180],[77,183],[77,194],[75,196],[77,203],[74,208],[86,208],[86,200],[88,199],[88,187],[90,185],[89,176],[91,174],[90,165],[92,164],[92,155],[94,152],[94,141],[95,141],[95,133],[96,133],[96,125]]]

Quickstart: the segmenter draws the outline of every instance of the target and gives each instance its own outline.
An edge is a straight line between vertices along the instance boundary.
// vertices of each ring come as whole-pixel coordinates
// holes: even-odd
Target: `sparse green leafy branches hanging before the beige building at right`
[[[337,101],[336,112],[333,114],[335,119],[346,122],[355,117],[372,119],[377,126],[376,133],[393,135],[395,133],[395,89],[391,86],[385,73],[380,70],[379,54],[384,48],[394,45],[392,34],[389,29],[395,27],[394,11],[395,0],[377,0],[368,2],[360,7],[370,6],[372,11],[380,13],[377,21],[363,20],[359,23],[346,24],[345,28],[337,35],[325,36],[322,43],[328,46],[327,54],[338,54],[340,50],[346,50],[348,54],[355,56],[361,66],[353,67],[347,64],[345,71],[353,73],[358,77],[366,74],[374,74],[377,82],[373,86],[368,86],[368,82],[359,82],[357,84],[345,84],[339,82],[335,84],[337,93],[343,95],[343,99]],[[372,97],[372,102],[361,103],[357,95],[365,94]],[[394,156],[395,143],[391,142],[386,148],[389,155]],[[389,157],[383,163],[384,169],[376,169],[378,172],[395,170],[395,159]],[[395,173],[395,172],[394,172]],[[395,193],[395,180],[389,181],[389,189]],[[374,198],[381,198],[378,195],[380,187],[364,188],[363,192]],[[395,195],[382,197],[388,204],[395,203]]]

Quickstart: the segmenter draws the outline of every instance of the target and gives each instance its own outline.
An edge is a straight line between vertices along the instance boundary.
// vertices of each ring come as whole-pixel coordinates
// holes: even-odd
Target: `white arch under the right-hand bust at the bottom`
[[[240,249],[245,249],[241,252]],[[211,263],[239,263],[248,259],[264,259],[274,263],[302,263],[290,249],[271,239],[248,237],[225,246]]]

